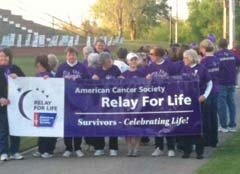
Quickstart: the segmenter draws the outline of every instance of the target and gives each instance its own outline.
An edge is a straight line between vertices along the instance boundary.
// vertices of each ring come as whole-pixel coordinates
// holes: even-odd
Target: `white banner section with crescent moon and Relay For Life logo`
[[[63,137],[64,79],[18,77],[8,83],[11,135]]]

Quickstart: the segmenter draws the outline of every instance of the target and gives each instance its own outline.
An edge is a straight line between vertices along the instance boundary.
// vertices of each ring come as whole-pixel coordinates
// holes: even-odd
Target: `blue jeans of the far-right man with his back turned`
[[[222,86],[218,96],[218,114],[220,125],[223,128],[236,127],[235,86]],[[229,123],[227,123],[227,107],[229,110]]]

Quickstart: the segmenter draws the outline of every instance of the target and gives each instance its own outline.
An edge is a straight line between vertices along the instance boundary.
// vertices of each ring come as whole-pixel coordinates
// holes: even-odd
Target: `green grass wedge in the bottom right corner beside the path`
[[[200,167],[198,174],[240,173],[240,132],[221,145],[210,160]]]

